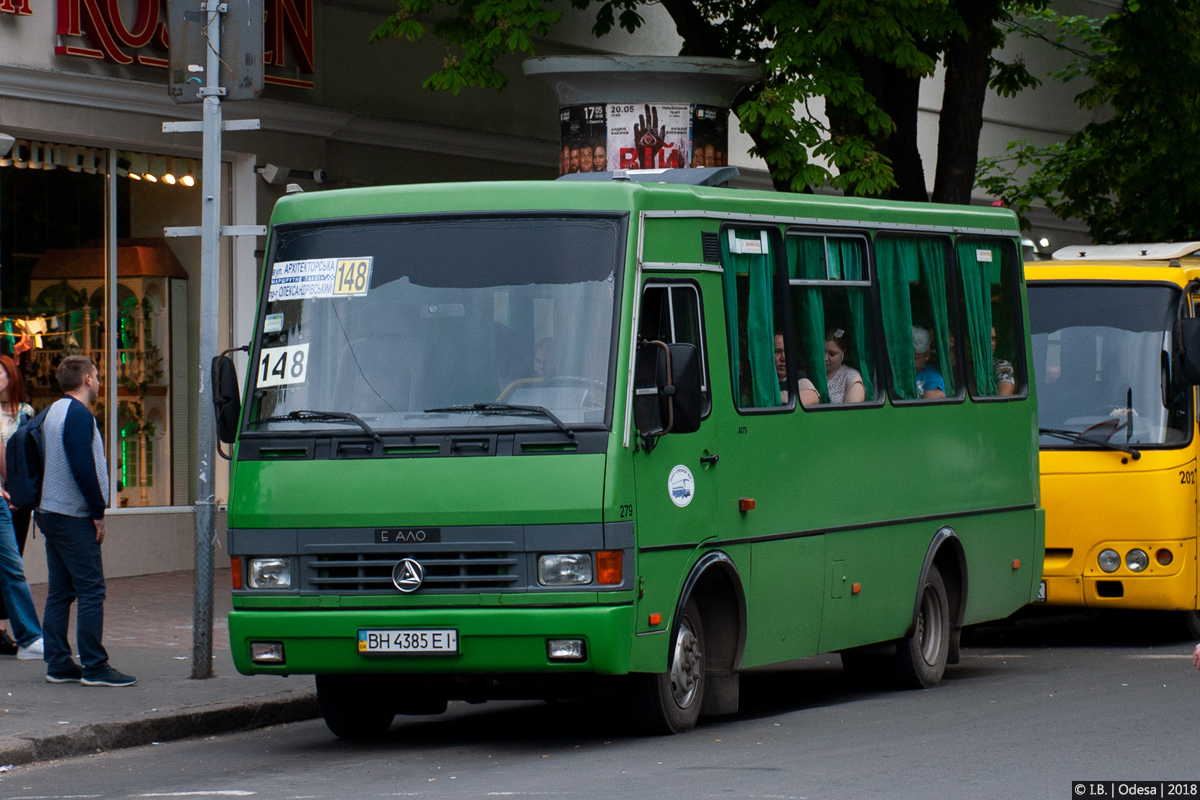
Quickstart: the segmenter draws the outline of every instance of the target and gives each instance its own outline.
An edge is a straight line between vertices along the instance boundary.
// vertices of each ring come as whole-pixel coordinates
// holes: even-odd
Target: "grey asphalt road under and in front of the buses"
[[[854,688],[836,656],[749,674],[738,715],[680,736],[586,703],[452,703],[368,745],[317,721],[17,768],[0,798],[1066,800],[1200,780],[1190,652],[1152,618],[1025,620],[976,631],[929,691]]]

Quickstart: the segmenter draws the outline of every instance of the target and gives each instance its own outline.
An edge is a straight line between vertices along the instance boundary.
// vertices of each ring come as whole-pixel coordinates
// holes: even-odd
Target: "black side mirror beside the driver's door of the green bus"
[[[700,429],[700,357],[694,344],[643,341],[634,365],[634,422],[647,451],[666,433]]]

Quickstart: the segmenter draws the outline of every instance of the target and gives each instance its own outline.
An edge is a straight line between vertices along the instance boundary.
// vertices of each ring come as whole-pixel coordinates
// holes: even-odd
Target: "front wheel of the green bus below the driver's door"
[[[700,718],[707,663],[704,625],[695,600],[689,599],[683,608],[672,648],[668,672],[630,675],[630,711],[640,733],[685,733]]]

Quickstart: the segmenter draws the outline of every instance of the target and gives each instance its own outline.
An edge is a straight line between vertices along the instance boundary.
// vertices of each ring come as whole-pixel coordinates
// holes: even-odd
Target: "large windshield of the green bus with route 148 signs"
[[[250,431],[610,423],[624,219],[326,221],[274,236]]]

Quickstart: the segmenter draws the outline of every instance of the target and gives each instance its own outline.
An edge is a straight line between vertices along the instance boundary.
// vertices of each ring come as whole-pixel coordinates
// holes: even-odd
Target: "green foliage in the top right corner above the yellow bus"
[[[1050,12],[1042,20],[1060,44],[1085,42],[1057,77],[1087,78],[1076,103],[1106,103],[1111,118],[1049,148],[1012,143],[1007,156],[980,161],[978,185],[1026,227],[1042,201],[1082,219],[1097,241],[1200,236],[1200,2],[1142,0],[1103,20]]]

